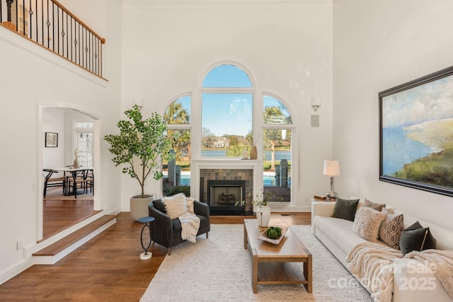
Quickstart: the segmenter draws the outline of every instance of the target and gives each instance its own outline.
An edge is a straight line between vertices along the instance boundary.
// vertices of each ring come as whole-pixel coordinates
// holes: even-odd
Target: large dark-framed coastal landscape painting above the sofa
[[[379,180],[453,196],[453,66],[379,93]]]

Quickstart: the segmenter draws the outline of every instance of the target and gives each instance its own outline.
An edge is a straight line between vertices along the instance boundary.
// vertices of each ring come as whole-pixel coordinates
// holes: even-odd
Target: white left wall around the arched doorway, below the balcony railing
[[[60,1],[71,4],[74,1]],[[98,79],[43,50],[6,28],[0,27],[0,139],[2,169],[0,189],[0,283],[30,265],[30,252],[38,238],[38,204],[42,193],[42,146],[45,127],[38,119],[45,105],[69,106],[91,112],[101,120],[102,135],[115,131],[120,117],[120,1],[77,1],[79,11],[93,11],[93,26],[105,37],[105,78]],[[90,21],[87,21],[90,24]],[[119,175],[110,163],[110,153],[101,141],[101,162],[96,167],[102,178],[97,182],[106,214],[120,211],[117,196]],[[24,249],[16,250],[17,240]],[[25,252],[26,250],[26,252]]]

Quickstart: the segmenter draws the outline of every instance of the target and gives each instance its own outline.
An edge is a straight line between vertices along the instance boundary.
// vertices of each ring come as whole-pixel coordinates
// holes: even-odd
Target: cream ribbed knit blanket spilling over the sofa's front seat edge
[[[374,301],[390,302],[394,288],[394,259],[402,257],[400,250],[367,242],[352,248],[346,263]]]

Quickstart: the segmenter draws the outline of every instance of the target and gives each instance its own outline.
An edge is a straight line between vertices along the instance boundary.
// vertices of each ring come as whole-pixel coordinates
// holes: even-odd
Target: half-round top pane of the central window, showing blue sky
[[[247,74],[234,65],[214,67],[206,75],[202,87],[251,87]]]

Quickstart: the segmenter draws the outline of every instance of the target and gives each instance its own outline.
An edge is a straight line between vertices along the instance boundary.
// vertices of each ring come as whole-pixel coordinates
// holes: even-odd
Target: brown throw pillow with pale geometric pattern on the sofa
[[[384,241],[389,247],[399,250],[399,240],[404,228],[403,214],[391,214],[386,208],[382,209],[382,213],[386,214],[386,217],[379,228],[379,239]]]

